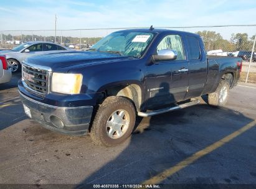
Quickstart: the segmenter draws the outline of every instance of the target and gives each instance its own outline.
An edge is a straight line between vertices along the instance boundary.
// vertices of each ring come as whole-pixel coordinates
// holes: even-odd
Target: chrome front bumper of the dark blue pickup
[[[63,134],[87,134],[93,106],[52,106],[31,99],[22,94],[21,91],[19,93],[22,103],[30,110],[31,119],[35,119],[42,127]]]

